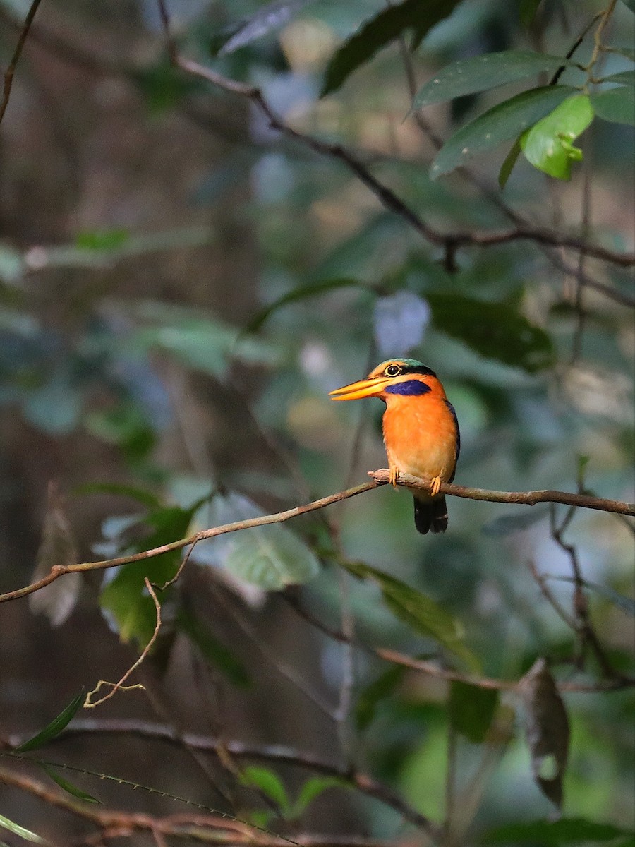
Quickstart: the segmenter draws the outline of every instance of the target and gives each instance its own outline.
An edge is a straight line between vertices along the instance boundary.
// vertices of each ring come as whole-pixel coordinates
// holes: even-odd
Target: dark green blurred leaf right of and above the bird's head
[[[549,335],[508,303],[459,294],[429,293],[436,329],[462,341],[479,355],[533,374],[555,361]]]

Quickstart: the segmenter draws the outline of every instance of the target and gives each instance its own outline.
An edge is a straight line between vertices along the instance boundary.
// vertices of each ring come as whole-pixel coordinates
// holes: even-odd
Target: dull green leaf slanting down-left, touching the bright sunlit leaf
[[[505,141],[515,141],[523,130],[576,93],[571,86],[543,86],[523,91],[490,108],[450,136],[434,158],[430,178],[436,180],[479,153],[493,150]]]

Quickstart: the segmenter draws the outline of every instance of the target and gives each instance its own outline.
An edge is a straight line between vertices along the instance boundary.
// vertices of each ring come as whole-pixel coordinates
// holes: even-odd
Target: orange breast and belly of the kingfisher
[[[386,396],[383,427],[391,467],[414,476],[450,480],[458,433],[440,385],[421,396]]]

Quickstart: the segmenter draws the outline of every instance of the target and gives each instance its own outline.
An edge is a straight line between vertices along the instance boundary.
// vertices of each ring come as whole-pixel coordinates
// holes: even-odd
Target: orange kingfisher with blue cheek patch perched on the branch
[[[417,491],[415,526],[425,535],[445,532],[448,509],[439,494],[451,482],[461,450],[459,422],[437,374],[417,359],[389,359],[366,379],[330,392],[334,400],[378,397],[386,404],[382,419],[390,482],[400,473],[431,480],[430,491]]]

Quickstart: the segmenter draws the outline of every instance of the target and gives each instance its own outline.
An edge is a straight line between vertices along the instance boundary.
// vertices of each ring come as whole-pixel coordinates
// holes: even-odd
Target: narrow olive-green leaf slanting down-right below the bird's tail
[[[372,579],[378,584],[384,603],[395,617],[415,632],[438,641],[439,645],[460,659],[471,671],[478,673],[478,658],[465,644],[463,628],[450,612],[446,612],[428,595],[370,565],[346,562],[344,567],[356,577]]]

